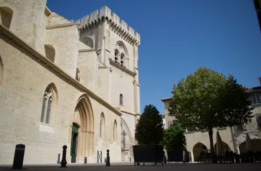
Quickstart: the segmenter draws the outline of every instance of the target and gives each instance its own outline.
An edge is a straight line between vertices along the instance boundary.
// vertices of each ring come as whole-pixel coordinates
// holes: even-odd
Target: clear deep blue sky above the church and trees
[[[173,83],[205,66],[260,86],[261,34],[249,0],[49,0],[47,7],[77,20],[107,5],[141,35],[141,113],[171,96]]]

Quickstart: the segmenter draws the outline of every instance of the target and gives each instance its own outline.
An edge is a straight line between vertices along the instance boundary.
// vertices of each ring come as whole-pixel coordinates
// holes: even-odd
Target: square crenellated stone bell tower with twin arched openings
[[[122,128],[130,134],[128,143],[135,144],[140,115],[139,34],[107,6],[74,23],[80,27],[80,41],[98,54],[97,92],[122,112]]]

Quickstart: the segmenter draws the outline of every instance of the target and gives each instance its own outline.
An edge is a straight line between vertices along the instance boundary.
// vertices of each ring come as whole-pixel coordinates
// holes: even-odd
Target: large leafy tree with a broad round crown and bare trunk
[[[212,155],[214,128],[251,122],[249,94],[232,75],[226,79],[222,73],[198,68],[174,84],[172,94],[170,116],[177,118],[181,127],[207,131]]]

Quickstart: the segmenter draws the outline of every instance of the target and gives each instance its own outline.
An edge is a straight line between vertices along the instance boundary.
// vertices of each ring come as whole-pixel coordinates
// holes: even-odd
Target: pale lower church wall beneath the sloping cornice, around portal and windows
[[[56,163],[62,146],[70,146],[69,122],[70,115],[76,107],[76,101],[83,93],[81,88],[70,83],[64,76],[58,74],[56,68],[49,68],[31,53],[22,49],[14,41],[11,42],[3,34],[0,47],[3,61],[3,81],[0,96],[0,163],[12,163],[15,144],[25,144],[24,163]],[[52,65],[51,65],[52,66]],[[55,67],[54,67],[55,68]],[[62,72],[60,70],[59,72]],[[65,73],[64,73],[65,74]],[[69,77],[67,77],[69,78]],[[40,122],[43,92],[54,83],[58,94],[57,109],[52,116],[52,125]],[[91,98],[94,116],[93,156],[88,161],[95,162],[95,150],[110,148],[114,151],[111,161],[120,161],[120,140],[112,143],[112,123],[117,120],[117,134],[120,137],[120,116]],[[98,147],[100,114],[104,111],[106,117],[106,141]],[[43,126],[41,126],[43,125]],[[45,127],[45,129],[41,129]],[[41,129],[41,131],[39,130]],[[48,130],[48,132],[46,132]],[[51,131],[50,131],[51,130]],[[51,133],[50,133],[51,132]],[[67,153],[67,156],[69,153]],[[37,157],[35,157],[37,156]],[[68,156],[69,157],[69,156]],[[80,161],[80,159],[79,159]]]

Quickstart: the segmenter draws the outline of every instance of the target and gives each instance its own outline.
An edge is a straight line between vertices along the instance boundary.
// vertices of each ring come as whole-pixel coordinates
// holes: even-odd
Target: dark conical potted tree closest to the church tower
[[[146,105],[135,129],[138,144],[157,145],[163,137],[163,120],[154,105]]]

